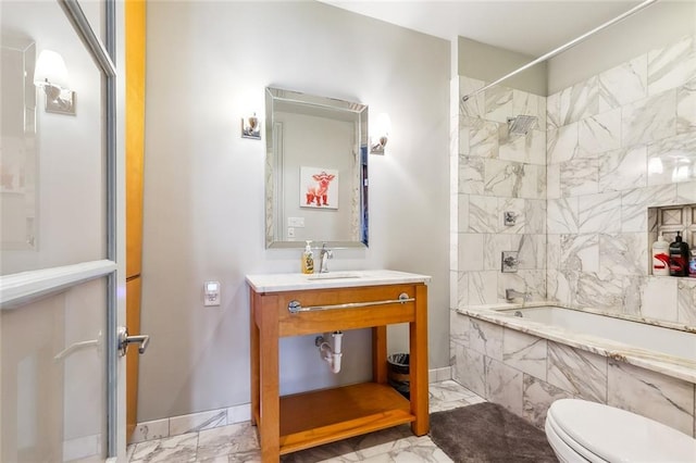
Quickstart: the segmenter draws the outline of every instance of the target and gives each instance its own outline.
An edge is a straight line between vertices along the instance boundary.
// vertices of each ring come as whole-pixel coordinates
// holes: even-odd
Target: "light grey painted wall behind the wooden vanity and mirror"
[[[264,88],[387,112],[384,157],[370,157],[370,248],[338,250],[332,270],[433,276],[430,367],[449,365],[449,42],[319,2],[148,2],[142,326],[138,421],[249,402],[244,276],[299,272],[300,249],[264,249]],[[262,127],[263,128],[263,127]],[[203,308],[220,280],[222,305]],[[400,327],[399,327],[400,328]],[[389,350],[407,348],[390,330]],[[395,333],[396,331],[396,333]],[[313,337],[281,343],[285,392],[370,374],[369,334],[348,333],[332,375]]]

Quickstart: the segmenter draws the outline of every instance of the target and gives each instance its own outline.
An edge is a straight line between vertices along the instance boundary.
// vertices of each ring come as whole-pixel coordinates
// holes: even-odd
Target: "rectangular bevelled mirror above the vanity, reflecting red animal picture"
[[[266,248],[368,246],[368,107],[266,88]]]

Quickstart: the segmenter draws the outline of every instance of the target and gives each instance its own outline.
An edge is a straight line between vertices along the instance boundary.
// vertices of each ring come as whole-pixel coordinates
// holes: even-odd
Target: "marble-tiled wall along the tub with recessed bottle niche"
[[[647,213],[696,202],[696,37],[549,96],[547,162],[548,297],[696,326],[696,281],[649,275]]]

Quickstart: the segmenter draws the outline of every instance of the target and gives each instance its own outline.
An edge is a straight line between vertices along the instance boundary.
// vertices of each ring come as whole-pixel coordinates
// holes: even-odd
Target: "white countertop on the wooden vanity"
[[[275,273],[247,275],[247,283],[257,292],[281,292],[304,289],[352,288],[359,286],[428,284],[431,277],[390,270],[338,271],[321,274]]]

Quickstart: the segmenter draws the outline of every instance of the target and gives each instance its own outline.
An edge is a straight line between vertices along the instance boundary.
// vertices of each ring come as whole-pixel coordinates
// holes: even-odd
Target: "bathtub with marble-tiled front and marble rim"
[[[551,303],[458,309],[452,379],[538,428],[559,398],[648,416],[696,437],[696,333]]]

